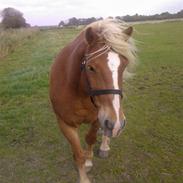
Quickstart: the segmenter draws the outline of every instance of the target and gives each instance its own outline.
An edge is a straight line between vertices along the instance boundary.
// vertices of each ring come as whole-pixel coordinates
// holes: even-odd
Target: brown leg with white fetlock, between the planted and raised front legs
[[[93,166],[92,158],[93,158],[93,146],[97,140],[97,131],[99,129],[98,121],[95,121],[91,124],[91,127],[85,137],[86,143],[88,144],[87,150],[85,151],[85,167],[86,171],[88,172],[91,167]]]

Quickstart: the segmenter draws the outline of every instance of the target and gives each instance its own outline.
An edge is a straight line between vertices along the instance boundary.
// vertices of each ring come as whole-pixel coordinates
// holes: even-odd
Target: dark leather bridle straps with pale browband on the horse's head
[[[86,63],[93,60],[93,59],[95,59],[95,58],[97,58],[97,57],[99,57],[99,56],[101,56],[101,55],[103,55],[103,54],[105,54],[110,49],[111,49],[110,46],[104,45],[102,48],[100,48],[99,50],[97,50],[95,52],[85,54],[84,60],[81,63],[81,71],[84,71],[86,73]],[[92,98],[94,96],[108,95],[108,94],[118,94],[118,95],[121,96],[121,98],[123,97],[122,90],[120,90],[120,89],[101,89],[101,90],[92,89],[87,75],[86,75],[86,84],[87,84],[87,88],[88,88],[88,95],[91,97],[91,101],[94,105],[95,105],[94,99]]]

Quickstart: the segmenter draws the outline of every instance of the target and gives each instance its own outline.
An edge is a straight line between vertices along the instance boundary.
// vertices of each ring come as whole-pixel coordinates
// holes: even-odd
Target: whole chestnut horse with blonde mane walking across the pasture
[[[117,137],[126,119],[122,83],[135,63],[133,28],[115,19],[89,24],[55,59],[50,73],[50,99],[60,130],[71,144],[80,183],[90,183],[93,146],[103,129],[99,149],[107,157],[110,137]],[[91,125],[83,150],[78,135],[82,123]]]

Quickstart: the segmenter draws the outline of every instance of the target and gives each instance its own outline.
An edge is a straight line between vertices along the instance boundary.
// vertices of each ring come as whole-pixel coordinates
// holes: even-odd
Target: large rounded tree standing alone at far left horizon
[[[26,21],[23,14],[14,8],[5,8],[1,12],[2,26],[8,28],[26,27]]]

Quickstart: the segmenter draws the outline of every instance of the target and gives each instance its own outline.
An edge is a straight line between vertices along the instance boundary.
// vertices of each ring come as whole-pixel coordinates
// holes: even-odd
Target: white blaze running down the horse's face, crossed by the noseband
[[[119,89],[118,68],[120,66],[120,58],[117,53],[114,53],[114,52],[108,53],[108,66],[110,71],[112,72],[114,89]],[[119,120],[120,96],[115,94],[112,103],[113,103],[113,108],[115,110],[116,118],[117,118],[114,126],[114,130],[113,130],[113,135],[116,135],[118,130],[120,129],[120,120]]]

